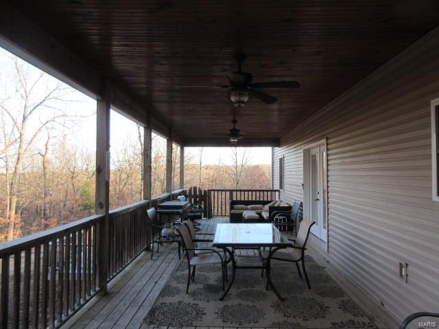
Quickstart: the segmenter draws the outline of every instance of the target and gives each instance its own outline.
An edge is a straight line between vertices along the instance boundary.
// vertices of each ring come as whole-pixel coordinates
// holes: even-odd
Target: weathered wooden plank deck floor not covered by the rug
[[[226,222],[228,219],[203,220],[202,231],[213,233],[217,223]],[[211,236],[206,236],[204,239],[209,239],[209,237],[211,238]],[[254,254],[253,250],[240,250],[239,252],[247,255]],[[108,295],[95,297],[70,319],[63,326],[63,329],[151,329],[150,326],[143,324],[143,319],[154,305],[176,265],[178,265],[176,244],[163,245],[160,247],[160,252],[157,254],[154,252],[152,260],[150,252],[143,253],[111,282],[108,287]],[[166,329],[167,327],[153,328]],[[222,327],[183,328],[221,329]],[[231,329],[224,327],[224,329],[226,328]],[[378,328],[385,328],[385,326],[378,326]],[[168,329],[174,329],[174,327]]]

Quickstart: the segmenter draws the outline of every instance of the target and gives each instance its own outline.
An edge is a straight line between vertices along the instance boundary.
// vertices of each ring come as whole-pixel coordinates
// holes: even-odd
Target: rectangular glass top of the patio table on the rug
[[[270,223],[217,224],[213,247],[292,247],[287,236]]]

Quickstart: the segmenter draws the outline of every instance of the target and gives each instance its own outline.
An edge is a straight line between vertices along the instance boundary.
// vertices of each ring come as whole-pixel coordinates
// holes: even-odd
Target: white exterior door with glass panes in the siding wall
[[[326,145],[304,149],[304,215],[316,222],[311,233],[327,241]]]

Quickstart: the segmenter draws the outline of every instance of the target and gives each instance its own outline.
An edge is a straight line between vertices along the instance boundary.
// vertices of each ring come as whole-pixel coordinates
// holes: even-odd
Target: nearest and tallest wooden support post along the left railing
[[[99,287],[107,292],[110,208],[110,99],[107,82],[103,83],[102,98],[97,100],[96,115],[96,197],[95,212],[105,215],[99,228]]]

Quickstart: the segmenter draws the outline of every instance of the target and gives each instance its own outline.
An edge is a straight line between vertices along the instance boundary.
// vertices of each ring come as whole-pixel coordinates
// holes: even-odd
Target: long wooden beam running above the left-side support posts
[[[3,0],[0,0],[0,46],[89,97],[102,99],[105,78]],[[110,82],[109,88],[112,108],[145,126],[147,113],[151,111],[114,83]],[[165,137],[172,135],[181,144],[180,136],[171,134],[170,127],[158,121],[154,114],[151,114],[151,126]]]

